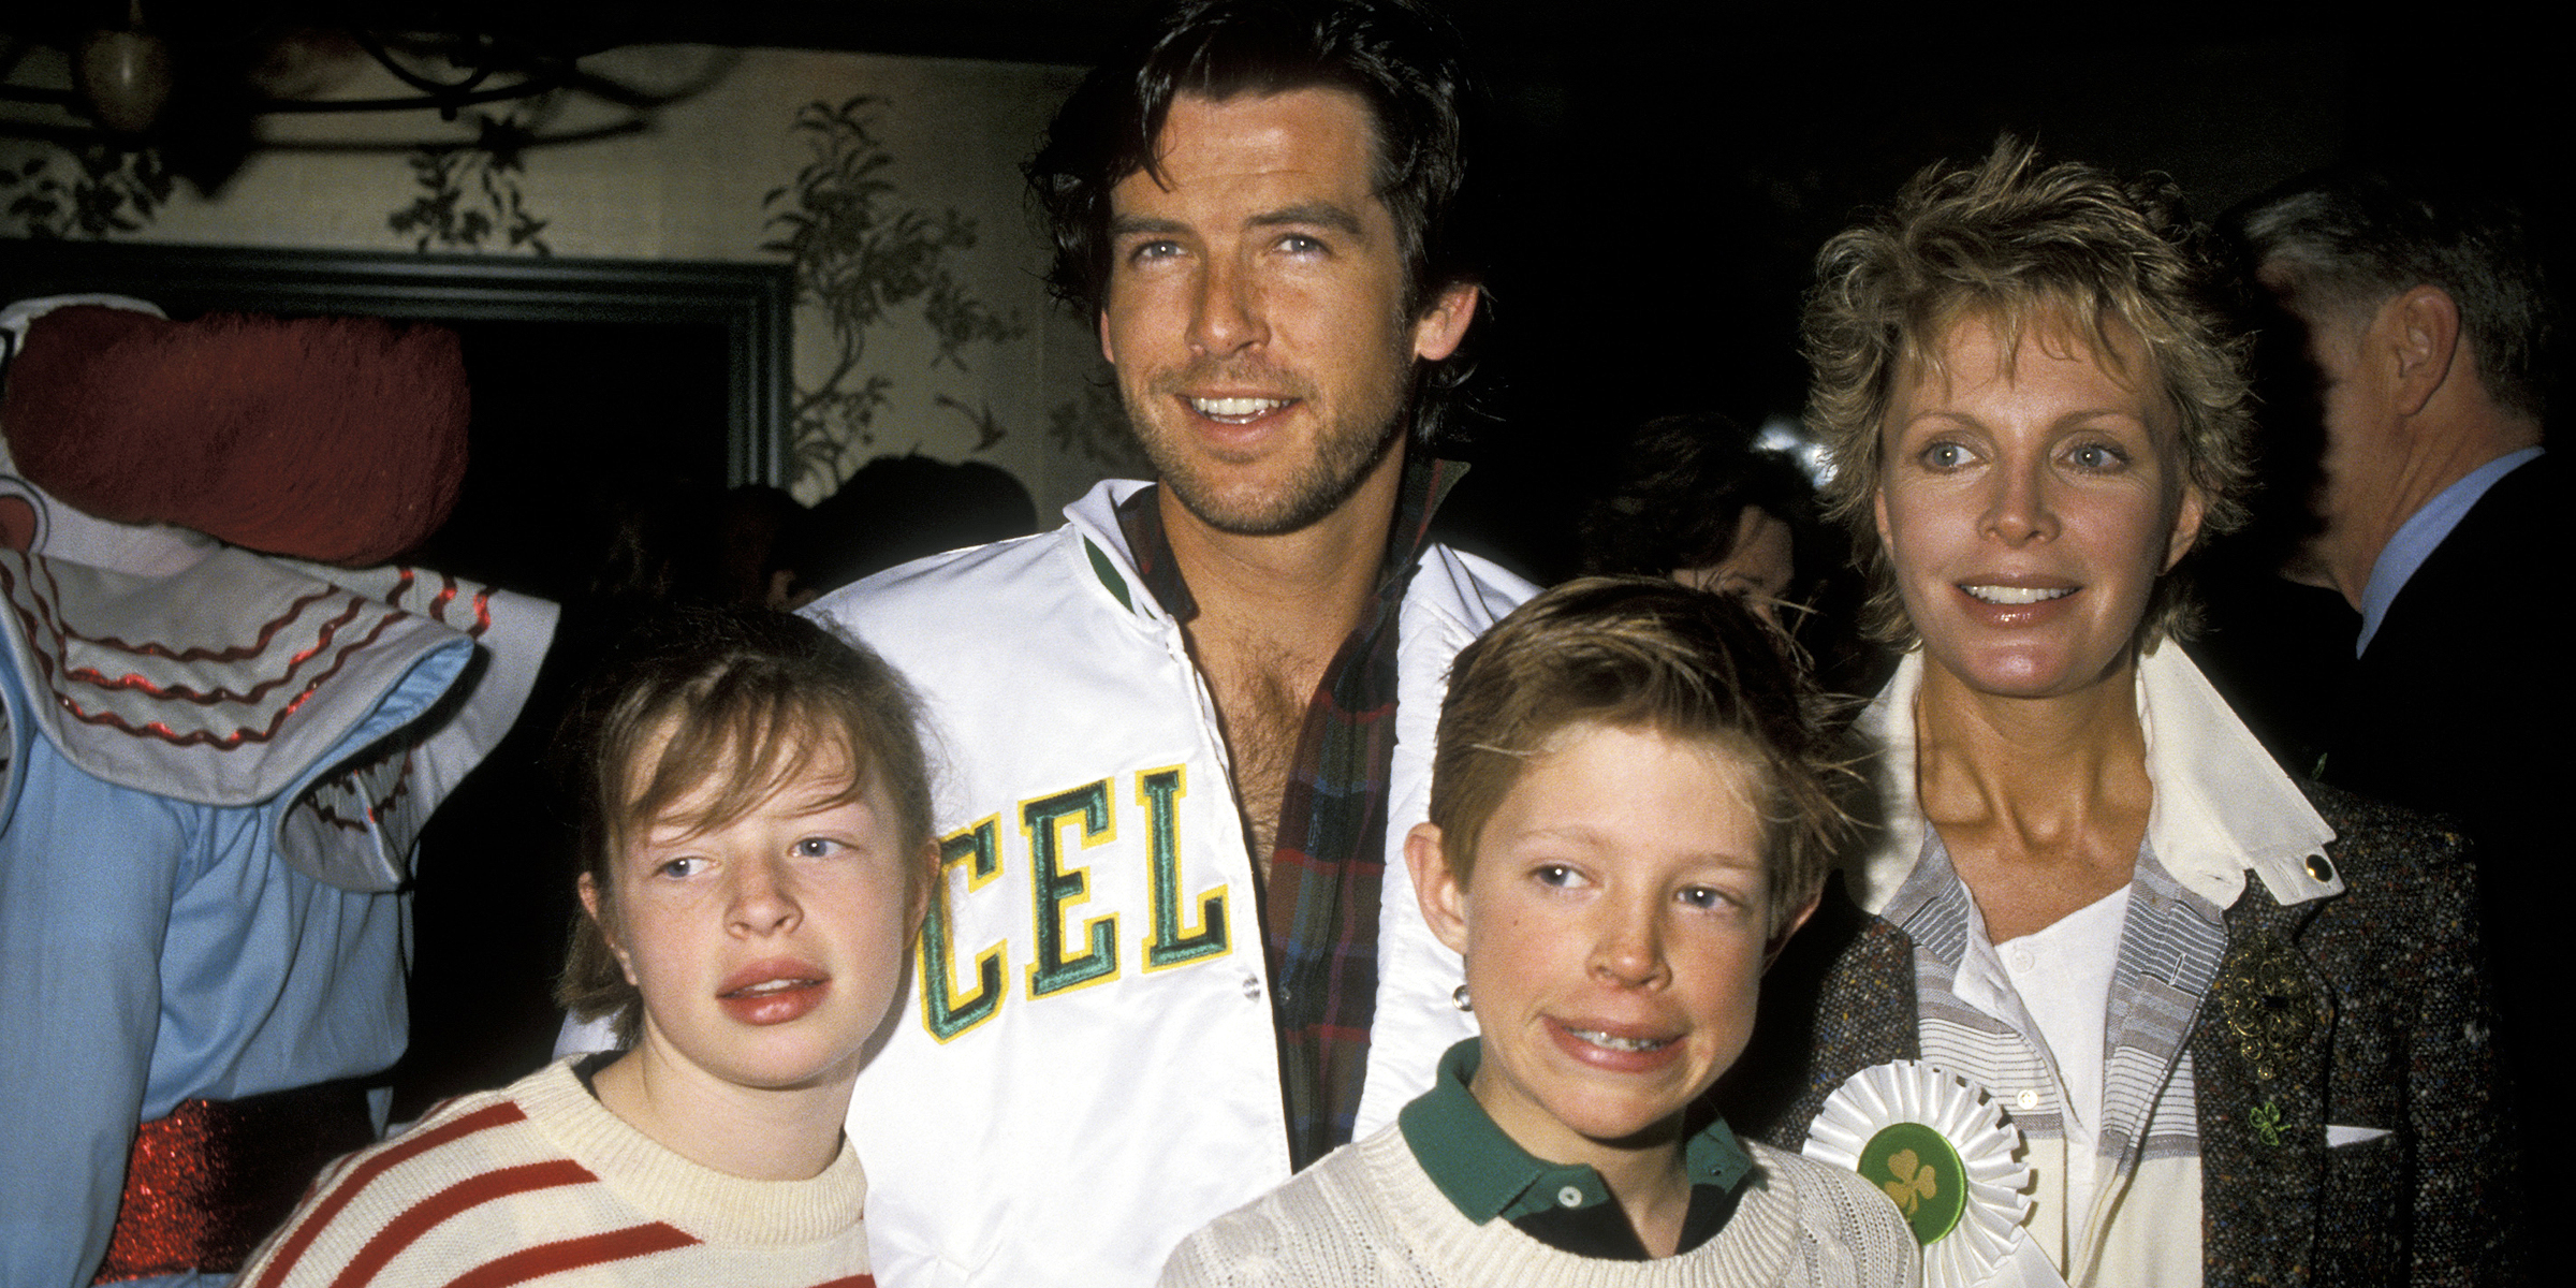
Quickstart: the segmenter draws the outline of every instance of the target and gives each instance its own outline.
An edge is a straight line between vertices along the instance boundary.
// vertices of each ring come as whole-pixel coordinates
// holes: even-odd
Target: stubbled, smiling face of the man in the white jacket
[[[1414,361],[1476,289],[1404,317],[1376,126],[1347,90],[1172,103],[1162,183],[1110,191],[1100,350],[1162,482],[1211,528],[1298,531],[1396,469]]]

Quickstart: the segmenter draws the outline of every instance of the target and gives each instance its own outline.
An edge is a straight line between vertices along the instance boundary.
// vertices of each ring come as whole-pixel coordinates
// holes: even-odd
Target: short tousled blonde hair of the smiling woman
[[[2215,265],[2172,180],[2040,165],[2012,137],[1973,167],[1924,167],[1893,211],[1824,242],[1803,325],[1806,422],[1834,459],[1826,513],[1847,526],[1875,582],[1862,626],[1888,644],[1914,641],[1870,500],[1899,381],[1937,371],[1940,345],[1963,317],[1989,317],[2002,337],[2063,322],[2105,371],[2161,394],[2179,428],[2184,479],[2200,489],[2200,533],[2244,526],[2254,479],[2246,345],[2226,325],[2215,289]],[[2136,335],[2146,371],[2120,371],[2120,330]],[[2187,580],[2164,574],[2138,644],[2151,649],[2192,621]]]

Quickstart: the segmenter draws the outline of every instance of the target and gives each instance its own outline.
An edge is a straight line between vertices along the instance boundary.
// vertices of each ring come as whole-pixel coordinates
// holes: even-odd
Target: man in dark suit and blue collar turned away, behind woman
[[[2545,922],[2568,899],[2550,711],[2571,698],[2571,562],[2543,453],[2540,260],[2512,209],[2367,173],[2267,196],[2241,237],[2316,376],[2308,580],[2360,613],[2318,778],[2470,832],[2506,1054],[2527,1115],[2550,1118],[2532,1038],[2558,974]]]

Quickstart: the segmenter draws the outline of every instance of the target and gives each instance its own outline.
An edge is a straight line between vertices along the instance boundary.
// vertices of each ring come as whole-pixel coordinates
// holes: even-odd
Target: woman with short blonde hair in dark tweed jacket
[[[1862,716],[1886,827],[1844,863],[1839,940],[1819,914],[1775,1139],[1870,1139],[1904,1079],[1999,1118],[2032,1185],[1994,1190],[1999,1252],[1953,1280],[2501,1278],[2512,1151],[2458,837],[2285,778],[2172,641],[2172,569],[2246,482],[2239,348],[2177,224],[2004,142],[1819,258],[1829,505],[1909,654]],[[1837,1092],[1886,1061],[1937,1072]]]

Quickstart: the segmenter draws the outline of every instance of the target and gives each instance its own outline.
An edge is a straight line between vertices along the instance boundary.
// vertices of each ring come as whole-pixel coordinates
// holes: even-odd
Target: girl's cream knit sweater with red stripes
[[[866,1195],[848,1144],[814,1180],[698,1167],[564,1061],[330,1164],[234,1285],[871,1288]]]

